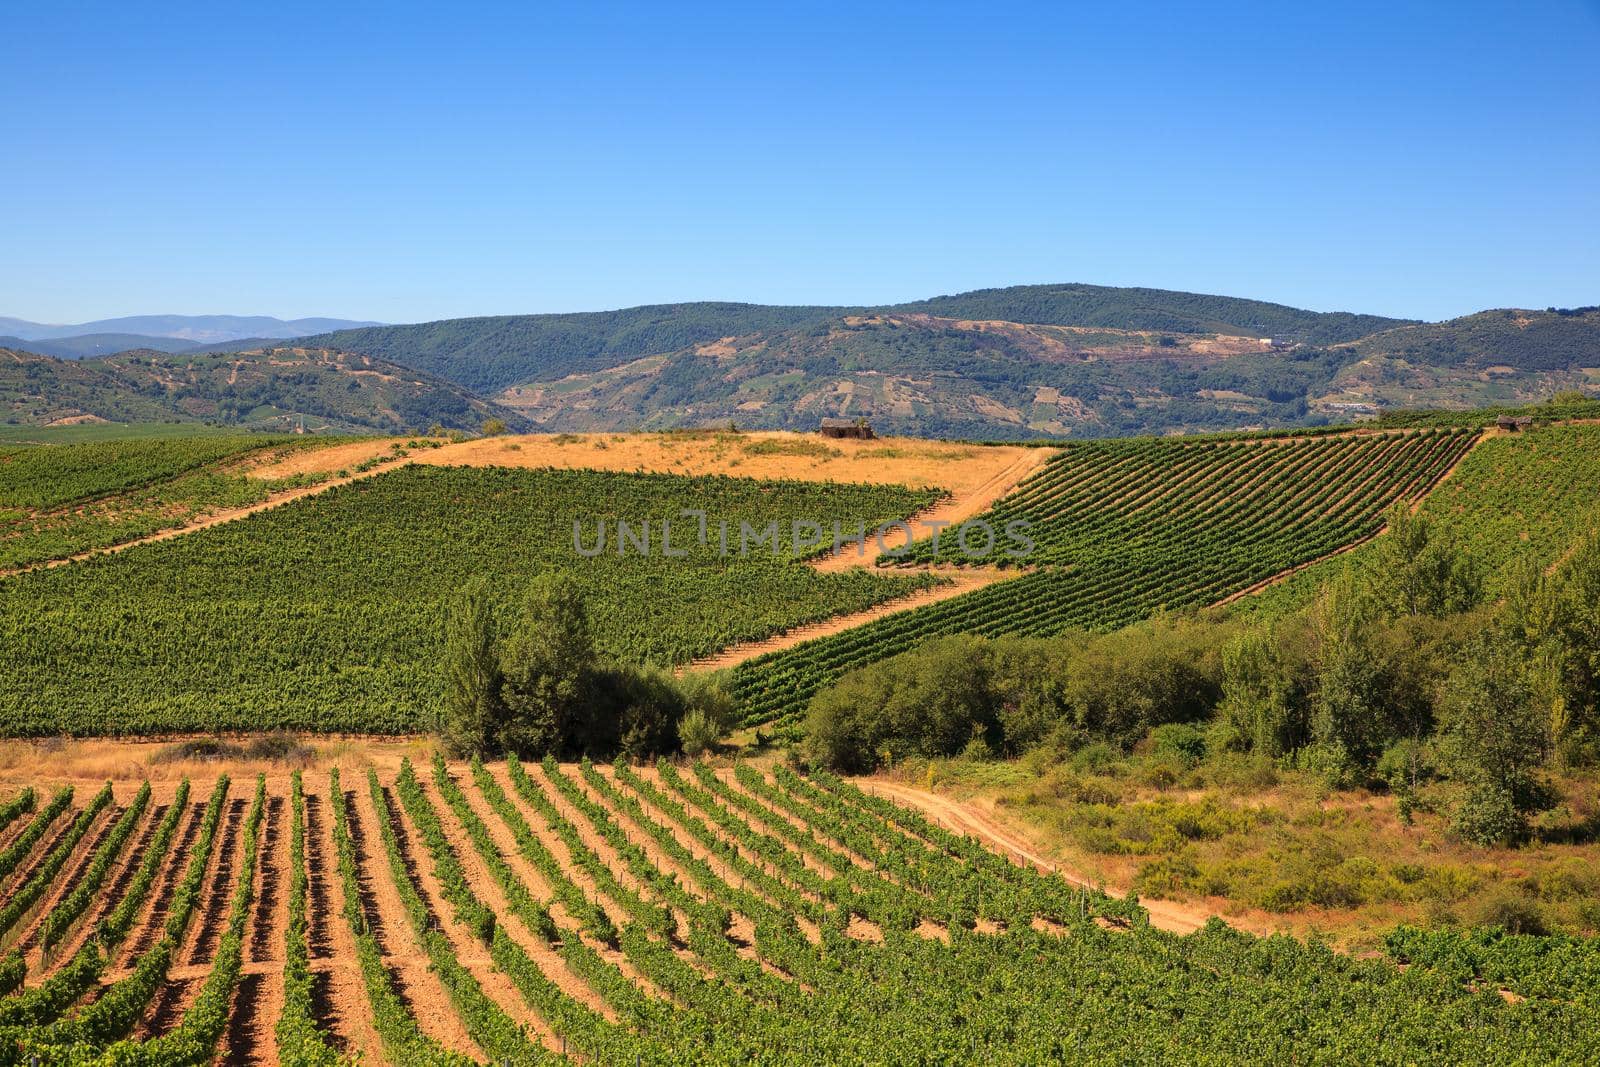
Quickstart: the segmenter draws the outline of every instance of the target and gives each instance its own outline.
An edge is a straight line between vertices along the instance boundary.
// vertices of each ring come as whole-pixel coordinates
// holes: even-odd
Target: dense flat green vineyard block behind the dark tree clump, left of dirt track
[[[936,581],[821,574],[770,549],[739,557],[739,523],[787,531],[814,517],[850,530],[934,498],[720,475],[402,467],[0,581],[0,734],[414,733],[442,688],[440,617],[474,577],[515,601],[533,576],[568,569],[590,595],[603,651],[680,664]],[[704,542],[685,507],[704,509]],[[653,523],[650,555],[619,553],[619,520]],[[683,557],[664,553],[662,520]],[[606,552],[579,555],[574,523],[592,547],[600,522]]]

